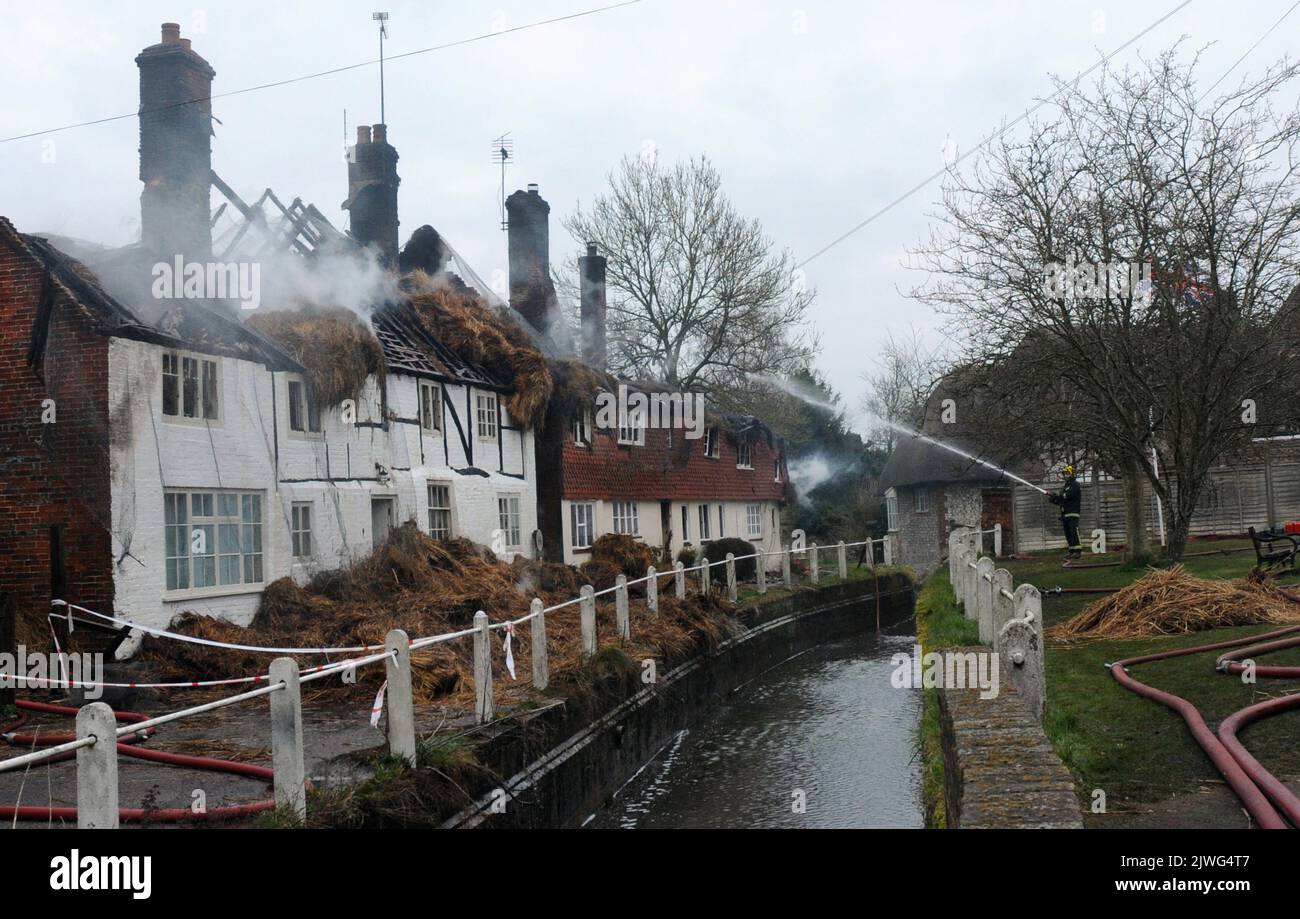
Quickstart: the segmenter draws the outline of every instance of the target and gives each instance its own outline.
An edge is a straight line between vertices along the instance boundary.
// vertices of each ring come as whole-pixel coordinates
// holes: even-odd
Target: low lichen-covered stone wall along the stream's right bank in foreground
[[[949,829],[1082,829],[1074,779],[1005,664],[998,686],[991,699],[978,689],[939,692]]]

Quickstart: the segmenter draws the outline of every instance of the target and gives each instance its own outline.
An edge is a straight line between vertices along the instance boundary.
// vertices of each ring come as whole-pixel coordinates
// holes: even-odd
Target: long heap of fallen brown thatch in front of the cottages
[[[644,569],[642,569],[644,575]],[[640,576],[640,575],[638,575]],[[389,541],[350,568],[322,573],[307,586],[289,578],[270,584],[261,607],[247,627],[186,615],[173,630],[242,645],[281,647],[342,647],[382,645],[390,629],[406,629],[412,638],[468,628],[478,610],[493,623],[528,614],[534,597],[556,606],[577,597],[578,573],[569,567],[541,562],[497,562],[468,541],[436,542],[415,525],[394,530]],[[597,611],[601,643],[614,643],[612,597],[602,598]],[[633,660],[653,658],[660,667],[684,659],[701,647],[733,634],[738,623],[734,607],[715,597],[679,601],[660,591],[659,615],[644,603],[632,608],[632,640],[623,650]],[[552,682],[582,669],[580,611],[575,604],[546,617],[547,650]],[[514,656],[517,681],[504,667],[504,633],[493,632],[493,671],[497,699],[524,698],[530,689],[530,629],[516,629]],[[333,655],[338,660],[344,655]],[[198,680],[214,676],[265,673],[266,654],[229,651],[148,638],[140,658],[162,680]],[[413,685],[420,703],[473,703],[473,641],[463,638],[412,655]],[[325,663],[322,656],[303,655],[303,667]],[[368,667],[356,682],[377,689],[384,668]],[[355,698],[355,685],[322,680],[317,689]]]

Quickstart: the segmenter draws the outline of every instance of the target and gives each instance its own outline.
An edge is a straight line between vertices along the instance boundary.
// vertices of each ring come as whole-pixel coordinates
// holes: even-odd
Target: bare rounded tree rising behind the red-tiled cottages
[[[814,291],[744,220],[707,159],[624,159],[608,192],[564,221],[608,257],[610,368],[686,390],[737,391],[806,365]]]

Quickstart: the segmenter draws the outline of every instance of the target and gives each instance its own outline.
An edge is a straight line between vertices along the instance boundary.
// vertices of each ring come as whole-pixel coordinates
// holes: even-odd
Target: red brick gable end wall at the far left
[[[108,339],[53,285],[46,347],[31,367],[47,285],[43,265],[0,218],[0,582],[20,616],[38,623],[49,611],[52,542],[62,543],[65,598],[98,610],[113,603]],[[42,420],[47,399],[53,424]]]

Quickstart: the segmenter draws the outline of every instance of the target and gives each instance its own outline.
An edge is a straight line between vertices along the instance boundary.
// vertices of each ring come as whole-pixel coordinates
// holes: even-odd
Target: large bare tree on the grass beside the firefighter
[[[1295,420],[1300,354],[1300,118],[1271,107],[1296,66],[1206,105],[1197,62],[1058,82],[1054,117],[949,174],[918,251],[916,295],[998,369],[1009,411],[1145,478],[1174,559],[1213,465],[1270,433],[1252,408]]]

